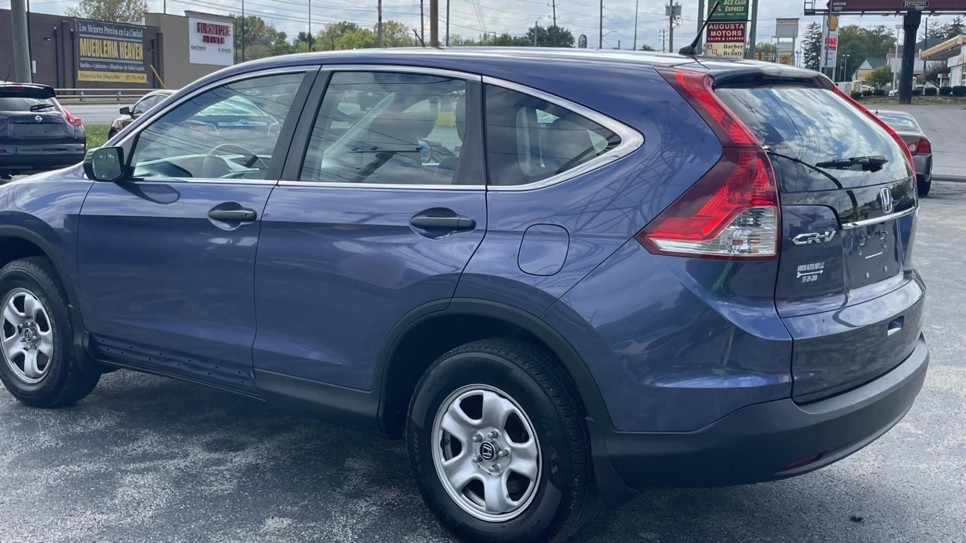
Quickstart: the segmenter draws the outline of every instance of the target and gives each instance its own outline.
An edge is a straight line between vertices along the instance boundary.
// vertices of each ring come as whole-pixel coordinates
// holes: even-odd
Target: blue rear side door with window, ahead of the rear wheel
[[[263,216],[253,357],[259,380],[367,390],[389,331],[450,300],[483,240],[480,83],[333,70]]]

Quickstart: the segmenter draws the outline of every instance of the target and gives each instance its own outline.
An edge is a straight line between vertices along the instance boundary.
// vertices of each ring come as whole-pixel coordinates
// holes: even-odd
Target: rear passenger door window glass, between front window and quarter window
[[[482,185],[467,163],[467,81],[388,71],[332,74],[298,179]]]

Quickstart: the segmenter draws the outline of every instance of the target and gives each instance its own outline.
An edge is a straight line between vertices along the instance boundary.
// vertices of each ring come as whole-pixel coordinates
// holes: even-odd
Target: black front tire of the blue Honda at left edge
[[[0,300],[14,289],[26,289],[41,301],[51,320],[54,351],[47,362],[50,367],[38,383],[18,377],[6,355],[0,354],[0,381],[17,400],[38,408],[63,407],[88,395],[98,385],[100,374],[82,371],[74,358],[68,299],[53,265],[44,257],[34,256],[4,266],[0,269]]]

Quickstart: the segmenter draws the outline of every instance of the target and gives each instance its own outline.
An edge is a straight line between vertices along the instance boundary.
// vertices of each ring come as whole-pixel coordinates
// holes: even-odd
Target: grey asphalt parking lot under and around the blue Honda
[[[931,367],[866,449],[772,483],[648,492],[574,541],[966,541],[966,184],[923,198]],[[723,465],[722,470],[728,467]],[[57,411],[0,390],[0,541],[443,542],[402,443],[119,371]]]

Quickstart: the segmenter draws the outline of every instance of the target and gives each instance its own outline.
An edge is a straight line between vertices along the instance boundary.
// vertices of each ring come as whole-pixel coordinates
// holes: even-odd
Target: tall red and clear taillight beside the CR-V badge
[[[657,254],[777,258],[779,191],[768,155],[752,131],[715,96],[710,74],[659,71],[718,136],[722,157],[635,239]]]

